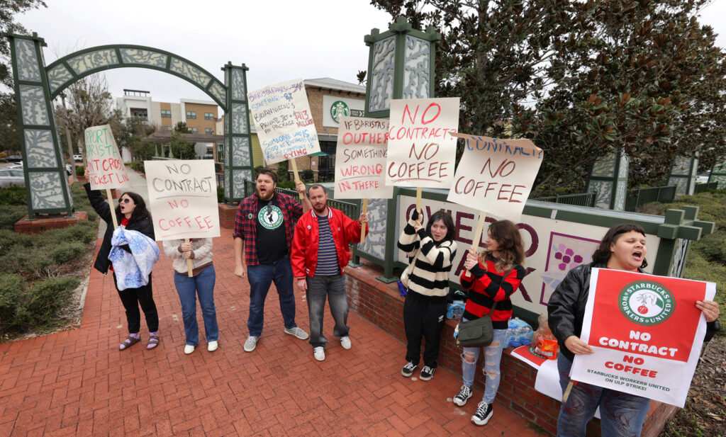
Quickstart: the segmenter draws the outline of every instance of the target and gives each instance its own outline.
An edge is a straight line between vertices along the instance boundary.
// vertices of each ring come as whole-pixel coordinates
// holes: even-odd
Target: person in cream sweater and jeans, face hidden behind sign
[[[212,239],[192,238],[164,241],[164,253],[172,259],[174,286],[181,301],[181,318],[184,320],[186,344],[184,354],[191,354],[199,344],[197,326],[197,295],[202,307],[207,350],[216,351],[219,346],[219,326],[214,307],[214,283],[216,272],[212,264]],[[189,277],[187,259],[192,260],[192,276]]]

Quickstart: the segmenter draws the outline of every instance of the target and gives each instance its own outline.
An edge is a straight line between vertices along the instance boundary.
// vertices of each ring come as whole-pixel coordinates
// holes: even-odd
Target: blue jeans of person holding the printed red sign
[[[572,362],[560,354],[557,369],[562,391],[570,382]],[[621,391],[575,383],[566,403],[560,407],[557,437],[584,437],[587,423],[600,407],[600,430],[603,437],[640,437],[650,401]]]

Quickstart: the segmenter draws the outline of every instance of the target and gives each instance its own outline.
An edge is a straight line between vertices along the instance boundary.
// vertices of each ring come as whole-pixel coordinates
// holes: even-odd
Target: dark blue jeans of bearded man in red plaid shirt
[[[280,311],[285,328],[295,328],[295,294],[290,258],[278,259],[272,264],[250,265],[247,267],[247,278],[250,281],[250,315],[247,319],[250,336],[262,335],[265,299],[273,281],[280,296]]]

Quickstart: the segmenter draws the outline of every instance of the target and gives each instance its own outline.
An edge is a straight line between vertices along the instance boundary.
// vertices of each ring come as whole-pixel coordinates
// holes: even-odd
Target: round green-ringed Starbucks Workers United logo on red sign
[[[648,280],[629,283],[620,292],[620,311],[638,325],[658,325],[671,317],[676,307],[673,294],[664,286]]]

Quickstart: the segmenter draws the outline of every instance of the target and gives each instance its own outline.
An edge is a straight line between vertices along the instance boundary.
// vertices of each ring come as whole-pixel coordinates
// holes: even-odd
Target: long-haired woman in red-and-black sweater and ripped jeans
[[[519,288],[526,275],[522,267],[524,248],[517,226],[509,220],[489,225],[486,249],[478,256],[472,249],[467,253],[461,286],[468,293],[462,320],[476,320],[484,315],[492,317],[494,339],[484,347],[484,397],[471,417],[475,425],[486,425],[494,414],[492,404],[499,388],[499,362],[505,348],[509,319],[512,317],[510,296]],[[492,310],[493,309],[493,310]],[[472,396],[476,360],[481,348],[465,347],[462,353],[462,380],[454,404],[462,407]]]

